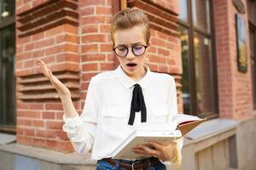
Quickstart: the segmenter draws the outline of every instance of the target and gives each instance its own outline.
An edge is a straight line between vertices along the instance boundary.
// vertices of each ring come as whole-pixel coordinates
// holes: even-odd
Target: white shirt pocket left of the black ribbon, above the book
[[[129,111],[123,107],[108,106],[102,109],[102,138],[124,139],[131,133]]]

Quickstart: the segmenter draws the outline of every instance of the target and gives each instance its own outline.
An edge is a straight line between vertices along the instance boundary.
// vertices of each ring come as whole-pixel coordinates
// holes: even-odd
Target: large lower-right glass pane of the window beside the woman
[[[194,33],[196,110],[199,115],[214,112],[211,40]]]

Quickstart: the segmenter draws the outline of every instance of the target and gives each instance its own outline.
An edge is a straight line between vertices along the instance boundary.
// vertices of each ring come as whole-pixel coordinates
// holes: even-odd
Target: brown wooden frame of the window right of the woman
[[[192,8],[192,0],[186,0],[187,2],[187,21],[183,21],[178,19],[177,25],[183,26],[188,29],[189,36],[189,90],[190,90],[190,115],[193,116],[201,116],[207,117],[208,119],[217,118],[218,117],[218,70],[214,70],[217,67],[217,57],[216,57],[216,40],[214,36],[214,15],[213,15],[213,4],[212,0],[209,0],[209,14],[210,14],[210,33],[206,32],[204,29],[194,26],[193,24],[193,8]],[[212,82],[213,82],[213,107],[214,111],[202,113],[197,113],[197,103],[196,103],[196,81],[195,81],[195,48],[194,48],[194,32],[207,37],[211,40],[211,51],[212,51]]]

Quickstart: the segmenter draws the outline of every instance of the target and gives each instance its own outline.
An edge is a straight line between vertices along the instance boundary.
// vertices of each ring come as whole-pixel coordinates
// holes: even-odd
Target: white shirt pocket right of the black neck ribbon
[[[150,122],[168,122],[167,105],[151,105],[150,111]]]

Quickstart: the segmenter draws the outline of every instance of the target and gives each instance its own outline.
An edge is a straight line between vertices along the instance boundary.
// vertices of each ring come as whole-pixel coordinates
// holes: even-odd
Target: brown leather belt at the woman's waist
[[[115,166],[116,164],[116,161],[118,160],[113,160],[111,158],[104,158],[102,159],[103,161],[107,161],[109,164]],[[150,164],[151,165],[154,165],[154,164],[157,164],[159,163],[159,159],[156,158],[156,157],[150,157],[149,159],[144,159],[142,161],[135,161],[134,163],[132,164],[129,164],[129,163],[123,163],[123,162],[120,162],[120,167],[121,168],[125,168],[127,170],[141,170],[141,169],[147,169],[148,168],[148,161],[150,161]]]

